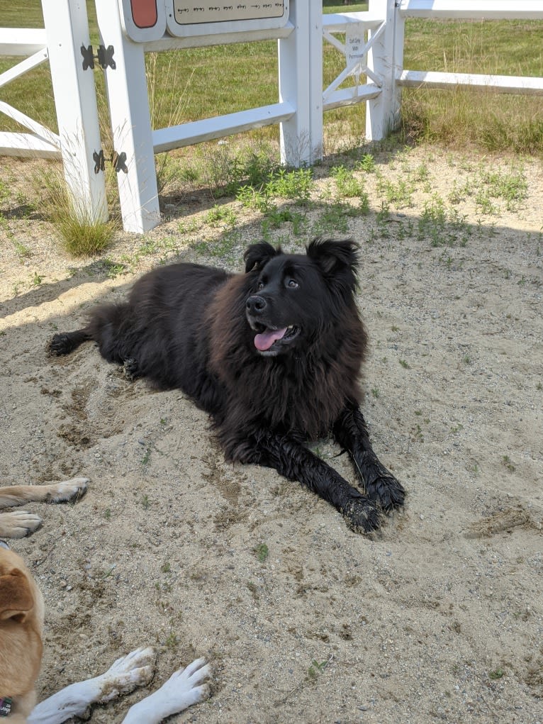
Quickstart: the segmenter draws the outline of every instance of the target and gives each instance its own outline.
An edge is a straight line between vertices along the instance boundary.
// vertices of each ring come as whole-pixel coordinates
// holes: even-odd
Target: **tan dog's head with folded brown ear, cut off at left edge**
[[[24,724],[35,704],[43,652],[43,597],[30,571],[0,548],[0,699],[9,696],[10,724]]]

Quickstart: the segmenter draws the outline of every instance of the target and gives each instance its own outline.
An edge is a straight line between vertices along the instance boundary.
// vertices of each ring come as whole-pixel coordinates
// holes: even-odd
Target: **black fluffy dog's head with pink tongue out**
[[[258,353],[275,356],[314,340],[353,306],[358,245],[313,240],[306,254],[284,254],[268,243],[245,252],[252,275],[245,302]]]

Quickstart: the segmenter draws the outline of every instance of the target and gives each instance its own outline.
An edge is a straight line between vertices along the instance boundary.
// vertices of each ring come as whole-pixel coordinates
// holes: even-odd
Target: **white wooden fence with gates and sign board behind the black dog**
[[[49,59],[59,133],[0,101],[0,112],[30,130],[0,132],[0,154],[62,157],[75,209],[106,219],[104,152],[90,70],[100,64],[106,75],[123,224],[133,232],[151,229],[160,220],[154,155],[161,151],[278,123],[282,162],[300,166],[321,158],[322,116],[328,109],[365,101],[366,138],[379,140],[397,125],[403,87],[463,85],[543,93],[543,78],[403,67],[406,17],[543,20],[540,0],[370,0],[369,12],[342,14],[322,14],[316,0],[274,0],[263,6],[270,8],[263,17],[245,17],[248,6],[237,3],[220,6],[230,13],[226,20],[217,15],[205,22],[197,13],[205,9],[191,9],[193,3],[95,0],[101,33],[97,54],[90,48],[85,0],[41,1],[44,30],[0,28],[0,55],[26,56],[0,75],[0,88]],[[180,20],[183,12],[198,22]],[[174,127],[151,127],[146,52],[269,38],[277,38],[277,104]],[[345,70],[323,90],[324,41],[345,56]]]

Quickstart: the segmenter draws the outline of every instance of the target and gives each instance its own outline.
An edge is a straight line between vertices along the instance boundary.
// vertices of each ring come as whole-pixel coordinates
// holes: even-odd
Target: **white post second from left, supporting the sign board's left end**
[[[96,14],[102,43],[113,46],[118,68],[106,69],[106,87],[114,151],[126,169],[117,172],[122,222],[126,231],[141,234],[160,221],[143,43],[122,32],[117,1],[96,0]]]

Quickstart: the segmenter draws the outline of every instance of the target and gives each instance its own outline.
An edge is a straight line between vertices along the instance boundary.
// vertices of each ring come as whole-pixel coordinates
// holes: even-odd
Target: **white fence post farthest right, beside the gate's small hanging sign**
[[[399,2],[397,3],[399,5]],[[403,20],[395,0],[370,0],[369,12],[385,19],[384,33],[368,51],[368,68],[382,79],[381,93],[366,105],[366,139],[386,138],[400,122],[397,72],[403,66]],[[370,30],[370,37],[373,30]]]

